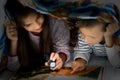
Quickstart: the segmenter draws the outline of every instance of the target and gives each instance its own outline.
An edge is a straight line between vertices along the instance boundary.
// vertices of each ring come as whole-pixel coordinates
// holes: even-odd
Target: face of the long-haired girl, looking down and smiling
[[[23,19],[24,28],[29,32],[40,33],[42,31],[43,17],[35,14],[30,14],[27,18]]]

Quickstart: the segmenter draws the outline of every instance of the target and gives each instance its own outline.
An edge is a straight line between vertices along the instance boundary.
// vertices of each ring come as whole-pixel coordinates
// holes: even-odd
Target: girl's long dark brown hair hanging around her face
[[[39,41],[39,48],[40,48],[40,54],[43,55],[41,57],[44,57],[45,55],[49,55],[52,51],[52,39],[51,39],[51,31],[49,26],[49,17],[45,14],[41,14],[37,11],[35,11],[32,8],[29,7],[23,7],[19,9],[14,16],[16,25],[17,25],[17,31],[18,31],[18,47],[17,47],[17,54],[20,59],[20,63],[22,65],[28,65],[29,64],[29,56],[31,54],[35,55],[34,49],[31,44],[31,40],[29,37],[29,33],[27,30],[23,28],[23,19],[25,19],[30,14],[39,15],[40,17],[44,17],[44,22],[42,24],[42,32],[40,32],[40,41]]]

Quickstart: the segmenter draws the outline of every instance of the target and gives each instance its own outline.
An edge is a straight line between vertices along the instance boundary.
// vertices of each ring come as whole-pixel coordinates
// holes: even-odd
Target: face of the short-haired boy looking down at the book
[[[84,41],[89,45],[100,43],[104,38],[104,32],[101,29],[101,25],[95,25],[90,28],[82,27],[79,28],[79,32]]]

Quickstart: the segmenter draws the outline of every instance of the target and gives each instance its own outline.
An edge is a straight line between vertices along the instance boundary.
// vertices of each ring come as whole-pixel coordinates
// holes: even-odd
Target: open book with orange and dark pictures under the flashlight
[[[81,72],[71,74],[70,67],[63,67],[57,71],[44,67],[23,75],[17,73],[10,80],[98,80],[101,69],[101,67],[91,66]]]

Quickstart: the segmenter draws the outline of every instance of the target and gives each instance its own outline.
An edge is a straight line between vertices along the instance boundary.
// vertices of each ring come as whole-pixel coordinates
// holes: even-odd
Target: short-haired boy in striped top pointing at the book
[[[81,19],[77,21],[77,24],[79,35],[74,48],[74,61],[71,64],[73,70],[71,73],[84,70],[91,54],[107,56],[113,66],[119,67],[119,51],[114,46],[115,38],[113,35],[120,28],[113,16],[100,13],[93,19]]]

